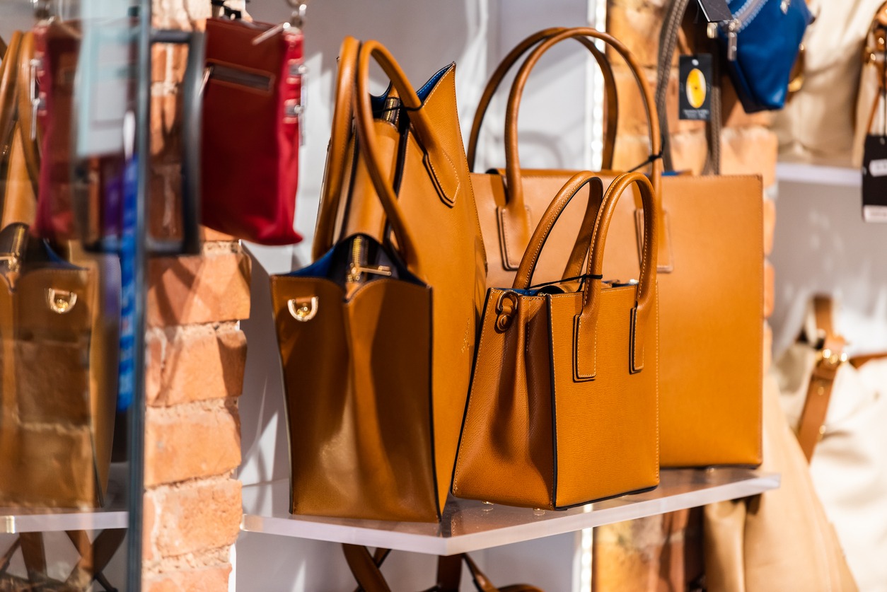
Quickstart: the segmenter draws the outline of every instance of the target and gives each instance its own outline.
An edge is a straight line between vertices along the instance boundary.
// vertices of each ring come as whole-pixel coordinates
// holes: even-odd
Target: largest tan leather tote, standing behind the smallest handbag
[[[506,168],[473,173],[471,178],[491,288],[512,284],[530,242],[530,229],[538,225],[552,196],[572,174],[521,168],[517,116],[523,88],[538,59],[554,44],[574,37],[601,39],[626,60],[648,115],[650,152],[655,156],[661,151],[659,117],[646,79],[623,43],[593,28],[567,29],[538,43],[514,78],[508,97]],[[491,96],[496,85],[494,77],[484,96]],[[475,114],[470,154],[485,105]],[[667,467],[757,465],[764,340],[761,179],[663,175],[661,160],[651,160],[650,181],[663,204],[658,253],[661,461]],[[607,185],[616,174],[603,170],[600,178]],[[573,201],[539,259],[538,281],[562,276],[587,195],[577,195]],[[610,231],[606,278],[638,278],[642,218],[638,193],[633,201],[619,202]]]

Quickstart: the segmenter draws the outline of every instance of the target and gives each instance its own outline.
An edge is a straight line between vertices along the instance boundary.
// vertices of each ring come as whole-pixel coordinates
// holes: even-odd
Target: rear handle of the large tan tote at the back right
[[[508,71],[514,67],[521,56],[530,51],[534,45],[567,30],[565,27],[546,28],[524,39],[518,43],[512,51],[508,52],[505,59],[496,68],[496,71],[490,77],[490,82],[483,89],[480,103],[475,112],[475,119],[471,123],[471,133],[468,137],[468,170],[475,170],[475,156],[477,154],[477,142],[481,135],[481,126],[483,126],[483,117],[487,114],[493,95],[496,94],[499,84],[505,79]],[[587,37],[577,37],[577,41],[585,45],[588,51],[592,52],[594,59],[598,62],[600,73],[604,79],[604,90],[606,92],[607,105],[607,125],[604,135],[604,149],[601,156],[601,168],[609,170],[613,167],[613,153],[616,149],[616,122],[619,121],[619,99],[616,96],[616,78],[613,76],[613,67],[610,66],[607,55],[600,51],[597,46]]]

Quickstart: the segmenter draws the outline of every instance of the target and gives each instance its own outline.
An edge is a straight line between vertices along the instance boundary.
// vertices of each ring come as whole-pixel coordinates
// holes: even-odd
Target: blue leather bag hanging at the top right
[[[721,24],[727,73],[746,113],[781,109],[812,15],[805,0],[730,0]]]

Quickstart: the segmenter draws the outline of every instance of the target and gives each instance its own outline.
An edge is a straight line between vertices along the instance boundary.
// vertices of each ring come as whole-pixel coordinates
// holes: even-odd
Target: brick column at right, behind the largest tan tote
[[[645,68],[655,88],[659,32],[669,0],[608,0],[608,31],[626,43]],[[690,11],[695,10],[691,4]],[[647,120],[632,75],[620,63],[616,68],[619,127],[615,167],[632,167],[648,157]],[[703,170],[707,153],[704,122],[677,119],[677,58],[668,93],[669,130],[676,169]],[[775,181],[777,140],[768,129],[773,115],[745,114],[728,83],[722,98],[724,130],[721,136],[723,174],[757,174],[765,186]],[[763,199],[763,196],[762,196]],[[765,253],[773,249],[776,210],[765,201]],[[765,316],[773,312],[773,266],[765,263]],[[765,327],[765,367],[769,367],[772,333]],[[702,516],[685,510],[595,529],[593,588],[596,592],[683,590],[703,572]]]

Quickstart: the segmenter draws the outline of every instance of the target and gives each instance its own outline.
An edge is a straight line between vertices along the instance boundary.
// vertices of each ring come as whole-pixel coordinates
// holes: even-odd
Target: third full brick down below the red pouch
[[[240,464],[240,418],[225,401],[149,407],[145,486],[223,475]]]

